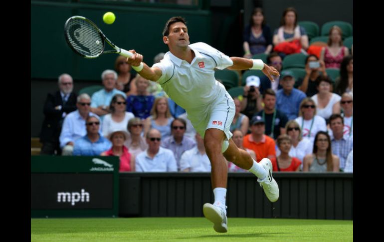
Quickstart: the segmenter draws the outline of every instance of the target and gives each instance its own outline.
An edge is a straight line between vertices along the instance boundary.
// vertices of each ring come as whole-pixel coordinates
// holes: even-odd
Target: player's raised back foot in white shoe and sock
[[[264,158],[259,163],[267,171],[267,176],[263,179],[257,179],[260,187],[263,188],[265,195],[271,202],[276,202],[279,199],[279,186],[272,177],[272,162],[268,158]]]

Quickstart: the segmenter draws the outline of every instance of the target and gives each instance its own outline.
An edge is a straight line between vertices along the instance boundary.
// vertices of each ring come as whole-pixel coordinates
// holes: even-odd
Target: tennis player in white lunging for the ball
[[[186,21],[180,16],[167,21],[163,41],[170,51],[160,63],[149,67],[142,62],[143,55],[135,50],[130,50],[134,55],[128,58],[128,63],[144,78],[160,83],[171,99],[186,109],[193,127],[203,137],[212,167],[214,194],[213,205],[204,204],[203,214],[214,224],[216,232],[225,233],[227,166],[224,157],[255,174],[271,202],[279,198],[279,188],[272,178],[271,161],[264,158],[260,163],[255,162],[246,151],[238,149],[231,139],[229,128],[235,105],[225,87],[215,80],[214,69],[259,69],[271,81],[272,75],[279,75],[279,72],[259,59],[229,57],[202,42],[190,44]]]

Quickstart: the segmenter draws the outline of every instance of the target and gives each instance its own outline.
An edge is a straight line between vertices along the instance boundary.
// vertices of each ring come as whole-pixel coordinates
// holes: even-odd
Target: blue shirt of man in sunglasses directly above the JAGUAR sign
[[[74,156],[99,156],[102,152],[111,149],[112,143],[100,134],[100,138],[92,143],[88,136],[81,137],[75,141],[73,147]]]

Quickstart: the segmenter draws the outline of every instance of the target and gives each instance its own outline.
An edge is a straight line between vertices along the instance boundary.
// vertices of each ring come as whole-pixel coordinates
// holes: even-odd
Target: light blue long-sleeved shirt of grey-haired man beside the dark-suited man
[[[100,117],[96,114],[89,112],[89,116]],[[101,124],[99,125],[99,132],[101,132]],[[80,116],[79,110],[70,112],[64,119],[63,127],[60,133],[60,148],[63,148],[66,143],[74,142],[80,137],[87,134],[85,128],[85,119]]]

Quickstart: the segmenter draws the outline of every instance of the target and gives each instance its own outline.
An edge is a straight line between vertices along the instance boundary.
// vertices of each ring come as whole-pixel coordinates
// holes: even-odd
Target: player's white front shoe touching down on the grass
[[[213,229],[218,233],[226,233],[228,231],[227,216],[224,212],[225,208],[216,207],[208,203],[202,207],[205,218],[213,223]]]

